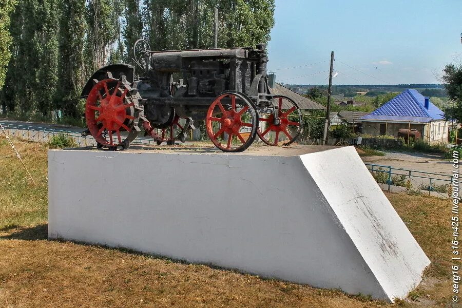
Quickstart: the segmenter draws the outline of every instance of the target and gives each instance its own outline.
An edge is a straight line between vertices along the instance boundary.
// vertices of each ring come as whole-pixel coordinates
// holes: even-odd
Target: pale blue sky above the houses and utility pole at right
[[[331,51],[334,85],[440,83],[444,66],[462,60],[462,0],[275,3],[268,71],[278,82],[327,84]]]

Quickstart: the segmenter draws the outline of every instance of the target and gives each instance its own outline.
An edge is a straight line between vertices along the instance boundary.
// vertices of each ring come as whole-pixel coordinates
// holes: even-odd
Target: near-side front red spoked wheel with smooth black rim
[[[240,152],[254,142],[258,116],[255,104],[237,91],[220,94],[205,118],[208,137],[222,151]]]

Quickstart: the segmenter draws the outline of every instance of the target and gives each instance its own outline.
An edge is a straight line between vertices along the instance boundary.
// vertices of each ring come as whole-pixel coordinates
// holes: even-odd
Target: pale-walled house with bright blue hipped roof
[[[400,128],[416,129],[428,143],[448,142],[445,114],[428,97],[407,89],[360,118],[362,133],[398,137]]]

